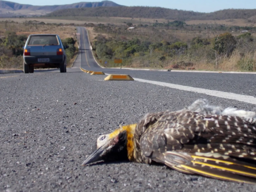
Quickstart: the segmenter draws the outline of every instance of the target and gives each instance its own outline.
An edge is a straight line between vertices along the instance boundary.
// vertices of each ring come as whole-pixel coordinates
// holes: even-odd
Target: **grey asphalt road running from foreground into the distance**
[[[81,37],[87,42],[86,34]],[[256,75],[101,69],[90,60],[86,45],[67,73],[53,69],[0,75],[0,192],[256,192],[253,185],[186,175],[166,166],[130,162],[80,166],[100,134],[138,122],[148,112],[179,110],[198,98],[256,111],[256,105],[231,99],[138,81],[103,81],[105,76],[81,72],[80,64],[245,95],[255,94]]]

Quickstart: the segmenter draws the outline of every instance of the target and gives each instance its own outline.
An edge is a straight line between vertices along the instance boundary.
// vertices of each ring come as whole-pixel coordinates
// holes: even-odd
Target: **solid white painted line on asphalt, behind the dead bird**
[[[203,93],[206,95],[221,97],[221,98],[225,98],[225,99],[234,99],[237,101],[246,102],[246,103],[256,105],[256,98],[253,96],[239,95],[236,93],[229,93],[229,92],[217,91],[217,90],[208,90],[208,89],[202,89],[202,88],[197,88],[197,87],[189,87],[189,86],[184,86],[184,85],[179,85],[179,84],[164,83],[164,82],[160,82],[160,81],[150,81],[150,80],[137,79],[137,78],[133,78],[133,79],[134,79],[134,81],[140,81],[143,83],[156,84],[156,85],[160,85],[160,86],[164,86],[164,87],[170,87],[173,89],[191,91],[191,92],[195,92],[195,93]]]

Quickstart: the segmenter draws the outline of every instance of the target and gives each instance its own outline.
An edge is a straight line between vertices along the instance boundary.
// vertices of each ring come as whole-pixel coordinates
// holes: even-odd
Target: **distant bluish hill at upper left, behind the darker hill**
[[[80,2],[67,5],[54,5],[54,6],[33,6],[20,3],[14,3],[9,1],[0,0],[0,14],[12,14],[12,15],[45,15],[50,12],[54,12],[62,9],[74,9],[74,8],[91,8],[91,7],[111,7],[121,6],[112,1],[101,2]]]

